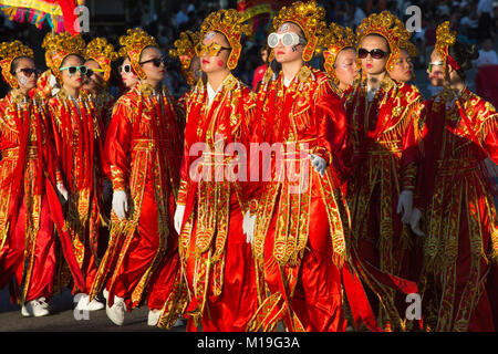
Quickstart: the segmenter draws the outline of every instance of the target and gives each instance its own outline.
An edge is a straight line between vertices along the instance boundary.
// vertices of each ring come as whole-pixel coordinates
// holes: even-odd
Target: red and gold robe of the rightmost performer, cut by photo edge
[[[498,329],[498,227],[484,159],[498,163],[498,114],[467,87],[427,103],[421,121],[425,323],[433,331]]]

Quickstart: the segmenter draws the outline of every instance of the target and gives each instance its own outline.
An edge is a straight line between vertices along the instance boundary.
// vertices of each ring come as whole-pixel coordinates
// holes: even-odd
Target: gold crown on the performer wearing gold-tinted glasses
[[[248,24],[242,24],[243,17],[237,10],[218,10],[209,13],[200,25],[200,40],[209,32],[222,33],[231,46],[231,53],[228,58],[227,67],[234,70],[239,62],[242,45],[240,39],[242,33],[250,34]]]

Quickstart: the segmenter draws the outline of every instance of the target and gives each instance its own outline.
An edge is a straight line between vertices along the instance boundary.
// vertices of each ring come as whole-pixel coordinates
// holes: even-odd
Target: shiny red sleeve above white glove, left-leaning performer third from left
[[[104,159],[114,190],[125,190],[127,186],[128,149],[132,138],[131,114],[126,102],[116,103],[105,136]]]

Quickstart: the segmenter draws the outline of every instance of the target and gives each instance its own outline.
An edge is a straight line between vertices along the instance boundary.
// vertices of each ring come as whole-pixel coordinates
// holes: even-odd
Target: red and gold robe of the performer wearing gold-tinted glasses
[[[247,146],[253,114],[252,92],[231,74],[210,105],[200,82],[187,101],[177,204],[186,206],[179,251],[190,293],[189,331],[200,324],[204,331],[245,331],[258,306],[251,248],[242,232],[247,204],[241,180],[227,177],[235,163],[226,149],[231,143]],[[204,155],[194,152],[196,143],[204,144]],[[200,180],[191,178],[199,160],[206,174]]]

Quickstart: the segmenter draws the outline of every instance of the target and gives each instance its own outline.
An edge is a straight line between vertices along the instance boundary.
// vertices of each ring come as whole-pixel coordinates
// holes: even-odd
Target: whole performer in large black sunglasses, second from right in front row
[[[417,164],[405,152],[416,146],[413,126],[423,98],[416,87],[390,77],[400,44],[409,39],[409,33],[396,17],[384,11],[365,18],[356,35],[363,80],[345,94],[354,166],[347,186],[351,243],[363,264],[416,281],[418,274],[411,258],[416,250],[415,237],[407,223]],[[382,304],[380,325],[387,331],[405,330],[405,296],[372,279],[363,280]],[[369,298],[377,310],[374,293]]]

